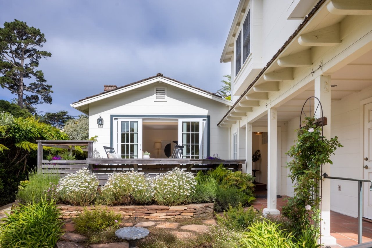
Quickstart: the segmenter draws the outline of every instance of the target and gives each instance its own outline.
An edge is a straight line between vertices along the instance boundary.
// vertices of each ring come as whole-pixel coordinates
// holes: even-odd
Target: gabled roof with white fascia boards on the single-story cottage
[[[84,109],[87,108],[87,105],[89,105],[93,102],[100,101],[100,100],[106,99],[110,96],[115,96],[117,94],[124,93],[124,92],[127,92],[129,90],[136,89],[136,88],[139,88],[139,87],[142,87],[142,86],[146,86],[146,85],[149,85],[151,83],[158,82],[158,81],[167,83],[169,85],[176,86],[176,87],[181,88],[181,89],[185,89],[189,92],[196,93],[198,95],[204,96],[206,98],[209,98],[209,99],[212,99],[212,100],[215,100],[215,101],[218,101],[218,102],[230,105],[230,106],[232,105],[231,101],[226,100],[225,98],[223,98],[221,95],[219,95],[217,93],[212,93],[212,92],[209,92],[207,90],[203,90],[201,88],[189,85],[187,83],[180,82],[180,81],[172,79],[170,77],[165,77],[165,76],[163,76],[163,74],[158,73],[158,74],[156,74],[156,76],[147,77],[147,78],[139,80],[137,82],[129,83],[127,85],[120,86],[118,88],[111,89],[111,90],[108,90],[108,91],[105,91],[105,92],[101,92],[101,93],[93,95],[93,96],[87,96],[86,98],[80,99],[77,102],[73,102],[72,104],[70,104],[70,106],[80,110],[81,112],[87,113],[87,111],[84,111]],[[84,106],[85,106],[85,108],[84,108]]]

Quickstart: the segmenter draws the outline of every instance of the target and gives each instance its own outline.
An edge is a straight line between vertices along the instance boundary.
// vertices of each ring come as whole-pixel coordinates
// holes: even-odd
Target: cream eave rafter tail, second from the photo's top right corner
[[[321,28],[298,37],[302,46],[335,46],[341,43],[340,24]]]

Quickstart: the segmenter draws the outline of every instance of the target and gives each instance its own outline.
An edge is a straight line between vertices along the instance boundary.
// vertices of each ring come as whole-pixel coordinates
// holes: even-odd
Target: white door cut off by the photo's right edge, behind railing
[[[372,179],[372,103],[364,105],[364,147],[363,147],[363,178]],[[363,216],[372,219],[372,192],[369,191],[369,183],[363,182],[364,193],[364,214]]]

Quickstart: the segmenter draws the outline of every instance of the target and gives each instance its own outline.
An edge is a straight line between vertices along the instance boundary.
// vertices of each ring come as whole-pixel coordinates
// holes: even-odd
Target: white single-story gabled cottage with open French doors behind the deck
[[[228,130],[217,123],[231,105],[161,73],[121,87],[106,85],[104,92],[71,104],[89,116],[89,136],[98,136],[94,148],[104,158],[103,146],[123,158],[142,158],[145,151],[167,158],[182,144],[183,157],[196,159],[215,153],[228,158]]]

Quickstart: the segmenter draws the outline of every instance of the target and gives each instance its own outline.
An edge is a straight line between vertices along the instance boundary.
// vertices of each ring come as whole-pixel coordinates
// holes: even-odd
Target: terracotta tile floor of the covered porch
[[[286,196],[277,199],[277,207],[282,212],[286,204]],[[267,207],[267,199],[257,198],[253,207],[263,211]],[[348,247],[358,244],[358,219],[331,211],[331,235],[337,239],[337,245],[331,247]],[[363,243],[372,241],[372,223],[363,220]]]

